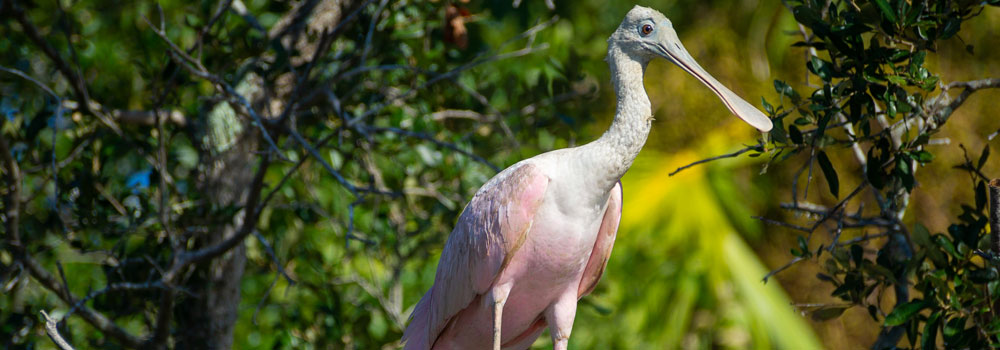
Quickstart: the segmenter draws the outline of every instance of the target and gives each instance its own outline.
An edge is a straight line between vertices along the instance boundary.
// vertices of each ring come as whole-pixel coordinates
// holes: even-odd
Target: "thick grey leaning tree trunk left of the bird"
[[[292,63],[302,66],[312,59],[318,40],[309,41],[305,32],[318,34],[332,32],[348,11],[353,11],[358,1],[304,0],[297,2],[273,28],[271,40],[279,40],[288,49],[294,47],[296,57]],[[291,50],[290,50],[291,51]],[[238,84],[236,90],[253,101],[257,111],[267,110],[262,117],[276,117],[281,113],[295,81],[293,73],[279,76],[275,86],[265,86],[263,79],[250,73]],[[264,91],[270,91],[265,94]],[[274,96],[267,99],[266,96]],[[263,107],[263,108],[261,108]],[[221,103],[209,113],[205,125],[206,146],[209,154],[204,163],[204,178],[199,188],[215,208],[243,207],[246,189],[253,180],[254,163],[259,157],[257,129],[239,118],[231,106]],[[240,210],[231,222],[210,228],[210,235],[201,237],[198,246],[210,246],[236,233],[243,224],[246,213]],[[233,329],[238,319],[240,282],[246,264],[246,247],[243,244],[213,259],[199,264],[185,282],[194,295],[182,296],[174,309],[177,331],[174,335],[177,349],[227,350],[233,345]]]

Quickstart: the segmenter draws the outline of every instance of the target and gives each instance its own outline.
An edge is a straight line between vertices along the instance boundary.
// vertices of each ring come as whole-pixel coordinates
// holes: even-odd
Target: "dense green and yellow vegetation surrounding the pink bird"
[[[1000,125],[970,98],[1000,86],[996,3],[646,4],[776,128],[715,127],[709,91],[650,67],[654,131],[570,346],[1000,342]],[[0,0],[0,344],[55,346],[45,311],[76,348],[397,347],[478,186],[613,111],[632,4],[512,5]]]

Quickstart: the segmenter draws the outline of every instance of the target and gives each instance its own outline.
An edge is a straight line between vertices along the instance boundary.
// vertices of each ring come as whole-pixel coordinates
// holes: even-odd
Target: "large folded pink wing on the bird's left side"
[[[430,349],[452,317],[489,291],[524,243],[548,184],[534,165],[515,164],[479,189],[448,237],[434,286],[413,308],[406,349]]]

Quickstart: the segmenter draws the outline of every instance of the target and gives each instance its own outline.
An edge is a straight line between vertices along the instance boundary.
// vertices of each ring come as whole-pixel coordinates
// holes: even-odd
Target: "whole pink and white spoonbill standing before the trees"
[[[618,97],[611,127],[596,141],[520,161],[490,179],[445,244],[434,286],[403,333],[405,349],[526,349],[549,327],[569,343],[576,304],[601,278],[621,218],[619,179],[652,121],[642,85],[663,57],[714,91],[750,125],[771,121],[705,72],[660,12],[636,6],[608,39]]]

